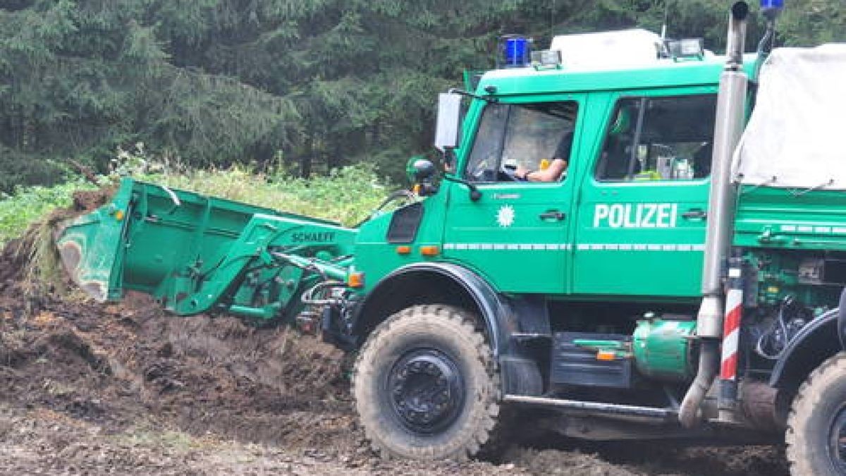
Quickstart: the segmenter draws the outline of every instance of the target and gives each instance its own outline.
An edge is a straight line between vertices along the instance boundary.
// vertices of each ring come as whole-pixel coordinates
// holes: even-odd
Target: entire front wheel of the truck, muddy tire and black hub
[[[499,374],[472,314],[414,306],[387,318],[355,362],[353,396],[382,457],[464,460],[491,443]]]

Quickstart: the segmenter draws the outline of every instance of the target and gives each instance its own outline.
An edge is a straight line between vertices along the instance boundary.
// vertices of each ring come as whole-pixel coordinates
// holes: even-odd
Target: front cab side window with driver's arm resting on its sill
[[[488,104],[464,178],[477,183],[519,180],[515,171],[545,169],[557,155],[569,155],[577,109],[574,101]]]

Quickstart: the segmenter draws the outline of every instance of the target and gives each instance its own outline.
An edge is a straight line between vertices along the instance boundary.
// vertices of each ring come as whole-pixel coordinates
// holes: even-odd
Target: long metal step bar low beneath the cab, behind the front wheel
[[[651,423],[678,423],[678,412],[672,408],[637,407],[598,401],[564,400],[543,396],[507,395],[507,403],[547,407],[583,416],[634,419]]]

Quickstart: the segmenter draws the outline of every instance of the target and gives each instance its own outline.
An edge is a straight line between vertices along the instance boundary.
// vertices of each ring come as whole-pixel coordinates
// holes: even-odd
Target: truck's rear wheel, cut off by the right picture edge
[[[846,352],[829,358],[799,387],[785,435],[792,474],[846,474]]]

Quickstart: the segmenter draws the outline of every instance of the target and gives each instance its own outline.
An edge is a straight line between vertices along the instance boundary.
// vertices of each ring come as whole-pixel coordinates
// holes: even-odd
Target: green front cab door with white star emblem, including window
[[[458,174],[477,187],[451,187],[443,256],[475,269],[498,291],[562,293],[569,275],[574,183],[515,180],[514,169],[543,169],[561,152],[579,150],[582,97],[486,104]],[[572,152],[569,152],[572,154]],[[559,158],[571,161],[570,157]]]

